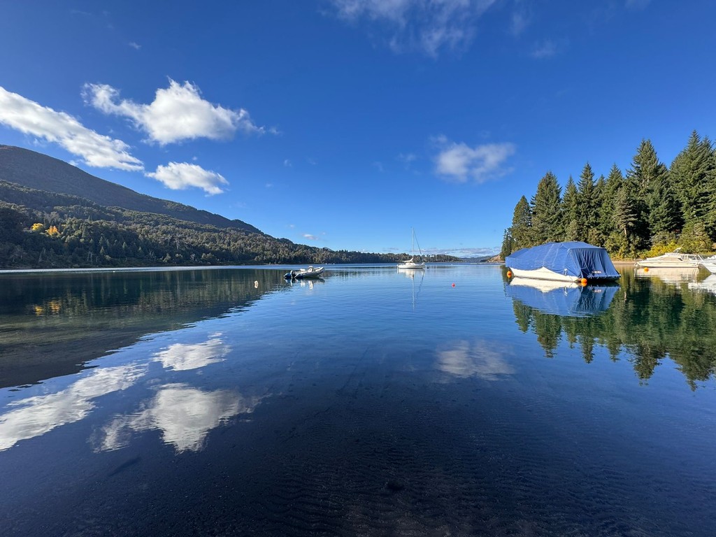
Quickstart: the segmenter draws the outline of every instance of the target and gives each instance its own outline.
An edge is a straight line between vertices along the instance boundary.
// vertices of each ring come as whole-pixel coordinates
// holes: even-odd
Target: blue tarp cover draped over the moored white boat
[[[604,248],[582,242],[546,243],[522,248],[505,258],[510,269],[547,269],[576,279],[616,279],[619,272]]]

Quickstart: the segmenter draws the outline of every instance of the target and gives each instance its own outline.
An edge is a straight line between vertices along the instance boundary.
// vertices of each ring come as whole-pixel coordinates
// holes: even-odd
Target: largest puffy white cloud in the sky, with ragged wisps
[[[84,84],[84,100],[105,114],[129,117],[135,126],[147,132],[160,145],[210,138],[230,138],[237,130],[262,134],[243,108],[230,110],[213,105],[201,97],[199,88],[190,82],[169,80],[169,87],[157,89],[154,101],[141,105],[120,100],[120,92],[107,84]]]

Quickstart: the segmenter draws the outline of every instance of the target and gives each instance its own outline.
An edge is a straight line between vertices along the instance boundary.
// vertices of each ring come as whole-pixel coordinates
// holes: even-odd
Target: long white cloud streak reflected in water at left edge
[[[64,390],[10,402],[8,407],[14,410],[0,415],[0,451],[84,419],[97,397],[126,390],[145,372],[146,366],[140,364],[92,369]]]

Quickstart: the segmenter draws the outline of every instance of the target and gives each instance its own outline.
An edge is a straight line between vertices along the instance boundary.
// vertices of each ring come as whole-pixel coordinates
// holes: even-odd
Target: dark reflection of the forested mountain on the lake
[[[0,388],[81,371],[145,334],[281,290],[282,269],[0,275]]]

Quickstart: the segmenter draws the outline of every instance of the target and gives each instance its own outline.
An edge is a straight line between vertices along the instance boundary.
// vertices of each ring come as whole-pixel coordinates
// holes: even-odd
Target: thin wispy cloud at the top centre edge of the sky
[[[437,57],[467,47],[477,22],[496,0],[329,0],[340,19],[383,26],[395,52],[418,50]]]

